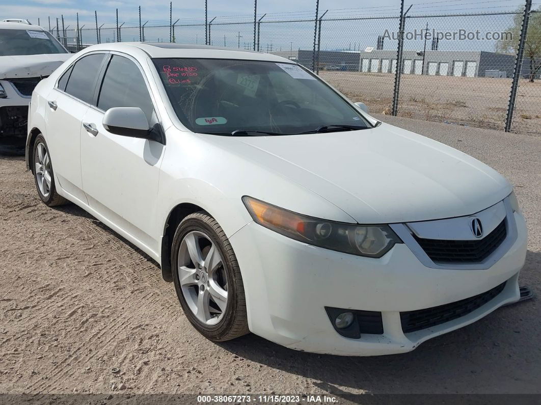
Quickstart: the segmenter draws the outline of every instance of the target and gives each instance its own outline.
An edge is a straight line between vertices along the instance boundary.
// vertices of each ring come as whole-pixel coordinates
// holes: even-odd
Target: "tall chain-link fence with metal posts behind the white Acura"
[[[313,70],[373,114],[541,133],[541,3],[526,0],[514,11],[424,12],[431,7],[206,21],[175,21],[171,13],[166,22],[98,24],[96,18],[68,29],[59,23],[51,32],[70,50],[142,40],[270,52]]]

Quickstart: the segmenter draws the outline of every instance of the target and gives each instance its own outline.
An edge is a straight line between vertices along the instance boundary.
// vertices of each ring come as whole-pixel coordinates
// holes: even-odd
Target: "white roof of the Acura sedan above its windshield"
[[[270,61],[292,63],[281,56],[264,54],[236,48],[212,47],[201,44],[182,44],[169,42],[116,42],[93,45],[87,51],[116,50],[130,53],[133,47],[141,49],[151,58],[212,58],[212,59],[246,59],[253,61]]]

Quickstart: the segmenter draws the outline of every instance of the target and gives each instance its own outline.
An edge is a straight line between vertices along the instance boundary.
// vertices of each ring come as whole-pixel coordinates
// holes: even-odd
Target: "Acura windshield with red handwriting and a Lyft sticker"
[[[343,125],[370,127],[352,105],[299,65],[181,58],[154,59],[154,64],[177,116],[194,132],[293,135]]]

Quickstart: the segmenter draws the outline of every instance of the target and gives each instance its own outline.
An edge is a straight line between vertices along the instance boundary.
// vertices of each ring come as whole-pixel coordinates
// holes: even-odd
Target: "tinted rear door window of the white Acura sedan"
[[[71,70],[65,92],[91,104],[94,83],[104,57],[104,54],[94,54],[79,59]]]

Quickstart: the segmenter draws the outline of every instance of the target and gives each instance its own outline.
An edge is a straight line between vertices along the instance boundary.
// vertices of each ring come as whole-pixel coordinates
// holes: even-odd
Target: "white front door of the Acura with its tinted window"
[[[159,172],[165,146],[155,141],[111,134],[102,124],[113,107],[140,107],[149,124],[159,122],[144,72],[135,59],[111,52],[95,107],[88,109],[81,136],[81,171],[90,207],[150,250]]]

